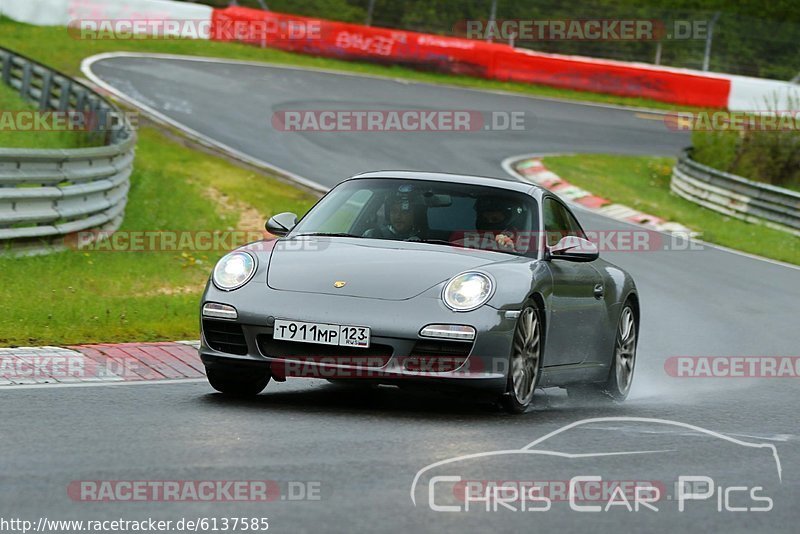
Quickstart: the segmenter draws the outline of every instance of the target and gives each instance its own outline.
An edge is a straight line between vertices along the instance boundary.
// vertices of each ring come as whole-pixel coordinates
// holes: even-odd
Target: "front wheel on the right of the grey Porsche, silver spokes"
[[[511,348],[506,392],[501,398],[509,413],[524,413],[539,384],[542,362],[542,321],[539,310],[526,306],[519,314]]]

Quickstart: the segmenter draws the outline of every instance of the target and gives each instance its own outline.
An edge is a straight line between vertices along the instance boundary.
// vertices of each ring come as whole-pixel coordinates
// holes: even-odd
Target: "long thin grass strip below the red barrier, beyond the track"
[[[469,76],[456,76],[434,72],[416,71],[394,65],[349,62],[336,59],[293,54],[274,49],[261,49],[239,43],[221,43],[195,40],[80,40],[71,37],[65,27],[30,26],[4,18],[0,20],[0,45],[28,55],[67,74],[81,75],[83,58],[103,52],[155,52],[211,56],[226,59],[264,61],[306,67],[335,69],[391,78],[444,83],[484,90],[502,90],[526,95],[563,98],[584,102],[600,102],[654,109],[697,109],[668,104],[645,98],[630,98],[583,91],[559,89],[544,85],[500,82]]]

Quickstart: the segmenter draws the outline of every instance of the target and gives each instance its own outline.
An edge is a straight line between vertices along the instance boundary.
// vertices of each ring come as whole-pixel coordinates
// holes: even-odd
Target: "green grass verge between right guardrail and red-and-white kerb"
[[[800,238],[702,208],[670,193],[672,158],[580,155],[545,159],[568,182],[613,202],[679,222],[701,238],[751,254],[800,265]]]

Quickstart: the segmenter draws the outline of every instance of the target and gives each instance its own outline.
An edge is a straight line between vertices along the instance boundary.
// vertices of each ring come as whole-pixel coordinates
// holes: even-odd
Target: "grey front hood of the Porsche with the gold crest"
[[[462,271],[510,258],[497,252],[425,243],[300,238],[275,246],[267,284],[284,291],[406,300]],[[336,288],[334,282],[345,285]]]

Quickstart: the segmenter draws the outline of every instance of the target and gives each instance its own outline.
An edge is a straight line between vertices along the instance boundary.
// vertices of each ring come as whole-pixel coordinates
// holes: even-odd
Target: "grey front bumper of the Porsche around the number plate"
[[[211,336],[207,337],[204,329],[200,357],[208,367],[269,365],[273,376],[279,380],[286,376],[301,376],[369,379],[392,384],[423,381],[504,391],[516,316],[488,305],[471,312],[453,312],[438,298],[439,291],[440,288],[408,300],[388,301],[278,291],[255,280],[233,292],[219,291],[209,284],[202,304],[215,302],[233,306],[238,318],[213,319],[216,323],[206,323],[206,326],[229,326],[237,333],[240,328],[241,337],[237,338],[238,348],[221,347],[209,342]],[[286,342],[302,354],[286,355],[276,350],[280,344],[272,339],[272,323],[276,318],[368,326],[371,329],[370,349]],[[201,329],[203,322],[201,320]],[[432,362],[428,360],[419,365],[420,346],[426,345],[423,342],[444,341],[420,336],[420,330],[429,324],[472,326],[476,330],[475,340],[471,343],[449,342],[448,346],[470,345],[463,357],[459,356],[461,359],[443,351],[440,361],[445,364],[436,363],[434,358]],[[447,344],[441,345],[444,348]],[[219,348],[223,350],[217,350]],[[316,353],[317,348],[322,350]]]

